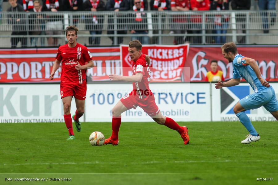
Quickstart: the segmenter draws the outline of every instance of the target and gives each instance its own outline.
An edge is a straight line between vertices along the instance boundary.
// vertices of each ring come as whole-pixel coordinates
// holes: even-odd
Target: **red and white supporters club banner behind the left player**
[[[120,74],[119,47],[88,49],[95,64],[88,70],[88,81],[108,80],[109,74]],[[55,80],[49,80],[56,53],[57,48],[1,49],[0,83],[60,82],[61,68],[55,73]]]

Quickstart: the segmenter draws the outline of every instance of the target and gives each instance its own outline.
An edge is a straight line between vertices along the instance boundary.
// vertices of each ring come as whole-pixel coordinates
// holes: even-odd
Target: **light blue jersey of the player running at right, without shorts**
[[[237,54],[234,57],[233,60],[233,70],[234,70],[234,79],[238,79],[240,77],[244,78],[253,88],[254,92],[263,92],[267,91],[269,88],[264,87],[258,77],[256,76],[256,73],[251,68],[250,65],[246,65],[245,61],[246,57],[243,57],[242,55]],[[263,77],[263,76],[262,76]]]

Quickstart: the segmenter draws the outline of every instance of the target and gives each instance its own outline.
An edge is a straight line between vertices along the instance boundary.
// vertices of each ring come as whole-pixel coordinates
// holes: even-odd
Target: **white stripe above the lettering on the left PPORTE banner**
[[[120,56],[120,52],[102,52],[93,53],[94,56]],[[13,55],[0,55],[0,59],[17,59],[17,58],[55,58],[56,53],[45,53],[45,54],[13,54]]]

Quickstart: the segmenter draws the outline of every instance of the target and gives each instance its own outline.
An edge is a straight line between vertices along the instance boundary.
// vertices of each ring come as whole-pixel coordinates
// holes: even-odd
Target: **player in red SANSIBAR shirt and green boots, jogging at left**
[[[76,130],[80,132],[81,124],[78,119],[84,114],[87,90],[86,69],[94,67],[92,55],[88,48],[76,41],[77,31],[78,28],[75,26],[68,26],[65,29],[68,43],[59,47],[49,76],[50,80],[54,79],[54,73],[60,67],[62,61],[60,93],[64,105],[65,124],[70,134],[69,140],[75,139],[70,115],[71,99],[74,96],[76,111],[72,118]],[[86,64],[86,62],[88,63]]]

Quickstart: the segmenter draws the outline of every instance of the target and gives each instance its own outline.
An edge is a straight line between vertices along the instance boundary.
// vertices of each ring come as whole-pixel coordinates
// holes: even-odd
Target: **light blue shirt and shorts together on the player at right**
[[[256,73],[250,65],[246,65],[246,57],[237,54],[233,60],[234,79],[244,78],[253,88],[255,93],[242,98],[239,103],[245,110],[257,109],[261,106],[269,112],[278,110],[278,101],[275,91],[270,87],[261,84]],[[263,76],[262,76],[263,77]]]

